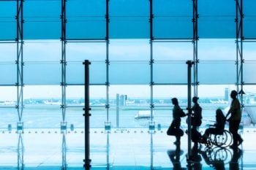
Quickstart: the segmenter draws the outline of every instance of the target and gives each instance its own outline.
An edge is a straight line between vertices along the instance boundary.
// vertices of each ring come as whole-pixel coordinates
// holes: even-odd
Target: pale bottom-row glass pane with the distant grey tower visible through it
[[[148,128],[150,122],[150,88],[148,85],[110,85],[110,117],[115,128]],[[136,119],[140,110],[148,115]]]

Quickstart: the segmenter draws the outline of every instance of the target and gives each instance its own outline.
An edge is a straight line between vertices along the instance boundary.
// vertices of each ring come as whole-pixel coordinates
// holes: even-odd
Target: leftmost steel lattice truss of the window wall
[[[18,111],[17,129],[23,130],[23,0],[17,0],[16,10],[17,37],[15,41],[17,44],[17,60],[15,63],[17,64],[17,104],[15,107]]]

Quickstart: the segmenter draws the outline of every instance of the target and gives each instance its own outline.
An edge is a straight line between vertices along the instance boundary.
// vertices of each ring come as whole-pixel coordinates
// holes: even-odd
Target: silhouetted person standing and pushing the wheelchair
[[[239,144],[243,142],[241,136],[238,134],[239,124],[241,122],[241,104],[238,101],[236,90],[232,90],[230,93],[230,97],[233,99],[231,102],[230,109],[227,112],[228,117],[230,114],[231,116],[227,119],[229,121],[229,130],[233,136],[233,144],[231,147],[238,147]]]

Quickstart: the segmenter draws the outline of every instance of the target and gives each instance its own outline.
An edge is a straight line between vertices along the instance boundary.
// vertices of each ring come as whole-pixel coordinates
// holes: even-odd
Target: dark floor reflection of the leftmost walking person
[[[170,158],[170,161],[173,163],[173,170],[185,170],[187,168],[181,167],[180,157],[183,154],[180,144],[176,144],[176,150],[167,150],[167,154]]]

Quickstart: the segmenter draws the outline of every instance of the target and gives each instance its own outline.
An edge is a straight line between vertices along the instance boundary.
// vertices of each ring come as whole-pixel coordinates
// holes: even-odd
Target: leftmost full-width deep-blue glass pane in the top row
[[[61,1],[26,1],[24,39],[59,39]]]

